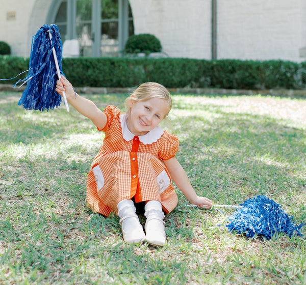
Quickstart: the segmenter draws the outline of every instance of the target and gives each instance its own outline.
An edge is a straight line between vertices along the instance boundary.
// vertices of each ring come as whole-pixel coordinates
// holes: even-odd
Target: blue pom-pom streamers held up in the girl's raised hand
[[[49,37],[49,33],[52,39]],[[18,105],[27,110],[53,109],[61,104],[61,96],[55,91],[57,70],[52,48],[55,48],[59,69],[62,73],[62,42],[57,25],[43,25],[32,38],[29,75],[23,80],[27,87]],[[16,83],[18,84],[19,81]],[[16,85],[15,84],[15,85]]]

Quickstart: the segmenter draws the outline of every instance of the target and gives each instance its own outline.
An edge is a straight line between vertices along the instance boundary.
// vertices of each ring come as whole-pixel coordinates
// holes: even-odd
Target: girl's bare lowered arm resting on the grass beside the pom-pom
[[[175,157],[164,160],[164,164],[167,167],[172,180],[177,185],[177,187],[180,188],[190,203],[207,210],[213,206],[213,202],[210,199],[206,197],[200,197],[196,194],[192,185],[190,184],[185,170]]]

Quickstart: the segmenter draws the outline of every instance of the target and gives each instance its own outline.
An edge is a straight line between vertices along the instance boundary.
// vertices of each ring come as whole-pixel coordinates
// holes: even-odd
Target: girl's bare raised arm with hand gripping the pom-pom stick
[[[56,92],[61,96],[65,91],[67,101],[83,116],[89,118],[93,124],[103,129],[107,123],[107,117],[103,111],[101,111],[92,101],[81,97],[76,93],[72,87],[72,84],[62,76],[60,80],[57,80]]]

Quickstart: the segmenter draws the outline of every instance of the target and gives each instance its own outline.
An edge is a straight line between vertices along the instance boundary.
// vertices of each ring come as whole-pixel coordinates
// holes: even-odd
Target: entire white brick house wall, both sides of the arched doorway
[[[51,3],[0,0],[0,40],[13,55],[30,55]],[[211,3],[130,0],[135,34],[154,34],[171,57],[211,59]],[[7,20],[9,12],[14,20]],[[217,0],[217,58],[306,60],[306,0]]]

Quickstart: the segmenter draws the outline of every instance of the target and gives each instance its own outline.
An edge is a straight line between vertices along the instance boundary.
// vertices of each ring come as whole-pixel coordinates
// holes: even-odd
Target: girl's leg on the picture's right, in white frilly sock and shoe
[[[152,200],[147,202],[144,207],[144,215],[147,218],[144,229],[146,232],[146,241],[153,245],[165,245],[165,222],[162,204]]]

